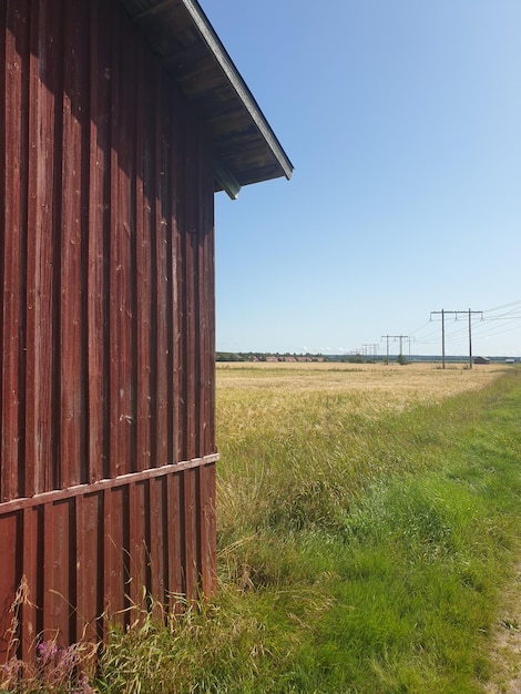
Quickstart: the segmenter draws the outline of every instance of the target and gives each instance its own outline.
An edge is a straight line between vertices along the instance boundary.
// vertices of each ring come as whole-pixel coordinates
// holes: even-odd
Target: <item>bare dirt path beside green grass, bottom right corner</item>
[[[484,692],[521,694],[521,561],[514,581],[503,595],[492,639],[496,671]]]

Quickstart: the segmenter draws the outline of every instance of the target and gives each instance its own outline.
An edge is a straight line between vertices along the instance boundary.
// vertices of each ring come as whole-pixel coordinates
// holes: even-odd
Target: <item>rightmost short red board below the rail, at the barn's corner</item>
[[[201,508],[201,585],[205,595],[217,590],[217,567],[215,548],[215,463],[206,465],[200,471],[200,508]]]

